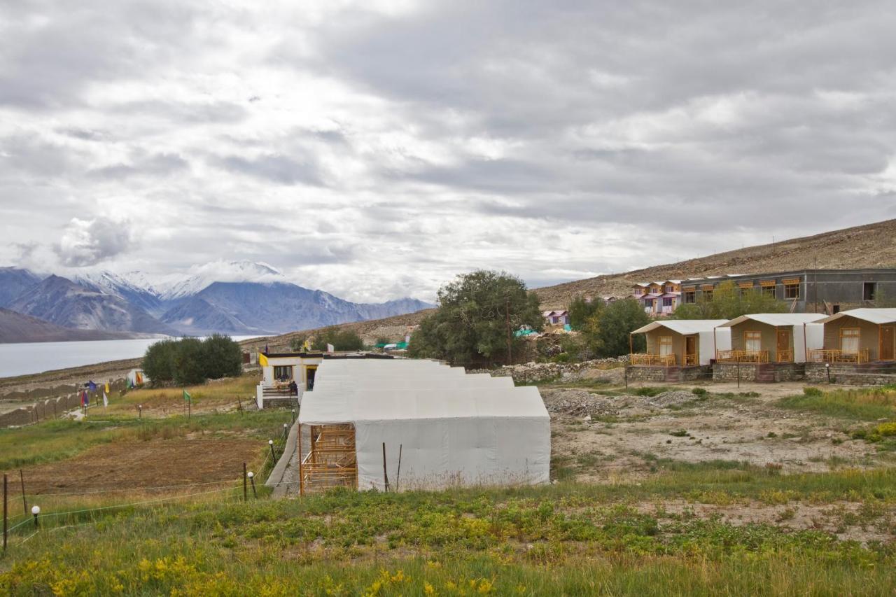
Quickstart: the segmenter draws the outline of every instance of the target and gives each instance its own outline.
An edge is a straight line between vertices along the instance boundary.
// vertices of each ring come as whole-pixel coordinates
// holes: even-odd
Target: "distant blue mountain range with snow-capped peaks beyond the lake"
[[[0,317],[0,342],[13,342],[8,338],[41,342],[66,335],[46,324],[64,331],[118,334],[115,337],[123,333],[266,335],[432,307],[418,299],[354,303],[286,281],[267,264],[224,265],[225,273],[220,267],[197,268],[192,275],[168,276],[154,283],[139,272],[88,273],[68,279],[0,268],[0,307],[8,310]],[[87,339],[77,336],[71,339]]]

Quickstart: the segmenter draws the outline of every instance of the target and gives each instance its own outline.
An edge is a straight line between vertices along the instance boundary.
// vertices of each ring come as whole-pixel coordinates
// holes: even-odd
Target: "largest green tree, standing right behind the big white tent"
[[[446,359],[452,364],[487,364],[520,355],[522,341],[513,337],[521,325],[540,331],[544,319],[538,297],[508,273],[478,270],[458,276],[438,292],[439,307],[413,333],[409,355]]]

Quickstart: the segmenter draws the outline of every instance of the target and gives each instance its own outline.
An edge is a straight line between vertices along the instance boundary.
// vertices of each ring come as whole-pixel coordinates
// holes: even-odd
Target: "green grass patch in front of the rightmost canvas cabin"
[[[896,390],[833,390],[821,392],[806,388],[806,393],[780,399],[778,405],[794,411],[817,412],[851,420],[896,418]],[[811,392],[809,391],[811,390]]]

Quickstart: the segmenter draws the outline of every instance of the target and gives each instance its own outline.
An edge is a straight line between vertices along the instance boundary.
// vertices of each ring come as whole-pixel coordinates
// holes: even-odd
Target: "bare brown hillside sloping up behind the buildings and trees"
[[[769,245],[745,247],[676,264],[655,265],[627,273],[615,273],[535,289],[545,309],[564,308],[577,296],[624,296],[637,281],[659,281],[723,275],[726,273],[787,272],[800,269],[896,267],[896,220],[823,232],[812,237],[792,238]],[[385,336],[399,340],[409,326],[416,325],[432,309],[403,316],[342,324],[358,332],[366,342]],[[300,334],[286,333],[267,340],[274,347],[289,346]],[[241,342],[244,347],[264,346],[264,340]]]

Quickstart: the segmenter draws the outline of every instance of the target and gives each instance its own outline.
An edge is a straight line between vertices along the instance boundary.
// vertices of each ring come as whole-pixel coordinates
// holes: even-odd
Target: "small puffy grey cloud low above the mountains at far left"
[[[131,245],[129,222],[73,218],[54,251],[66,267],[84,267],[107,261],[124,253]]]

